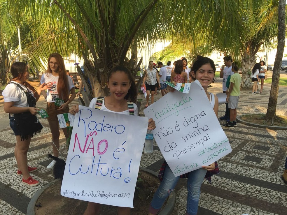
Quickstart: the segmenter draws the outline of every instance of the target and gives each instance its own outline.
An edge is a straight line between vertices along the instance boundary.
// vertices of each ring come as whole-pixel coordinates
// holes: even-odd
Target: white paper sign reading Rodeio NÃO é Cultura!
[[[133,207],[146,117],[79,106],[61,195],[106,205]]]

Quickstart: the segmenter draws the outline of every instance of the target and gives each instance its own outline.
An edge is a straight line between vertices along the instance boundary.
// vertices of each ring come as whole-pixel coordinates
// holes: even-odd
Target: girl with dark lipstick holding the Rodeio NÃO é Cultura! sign
[[[153,63],[152,63],[153,64]],[[111,92],[110,96],[96,97],[90,102],[90,108],[96,108],[113,113],[138,115],[136,102],[136,85],[131,72],[124,66],[115,66],[108,73],[107,86]],[[130,101],[128,101],[130,100]],[[69,113],[76,114],[79,111],[79,106],[74,105]],[[148,120],[148,129],[155,129],[155,121]],[[136,139],[136,134],[134,134]],[[84,215],[98,214],[101,209],[101,204],[89,202]],[[119,215],[129,215],[129,207],[119,207]]]

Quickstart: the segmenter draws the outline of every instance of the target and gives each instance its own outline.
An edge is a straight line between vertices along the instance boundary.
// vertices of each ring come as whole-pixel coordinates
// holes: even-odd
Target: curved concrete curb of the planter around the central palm
[[[140,170],[143,170],[145,172],[150,173],[151,175],[154,175],[155,177],[157,177],[158,173],[140,167]],[[38,200],[38,198],[40,197],[40,195],[50,186],[52,186],[53,184],[55,184],[57,181],[60,181],[60,179],[55,179],[51,182],[49,182],[48,184],[46,184],[45,186],[43,186],[40,190],[38,190],[35,195],[33,196],[33,198],[30,200],[28,207],[27,207],[27,215],[35,215],[35,205],[36,202]],[[171,194],[169,195],[168,199],[167,199],[167,203],[165,204],[164,208],[161,210],[161,212],[158,215],[170,215],[173,210],[174,210],[174,206],[175,206],[175,192],[171,192]]]

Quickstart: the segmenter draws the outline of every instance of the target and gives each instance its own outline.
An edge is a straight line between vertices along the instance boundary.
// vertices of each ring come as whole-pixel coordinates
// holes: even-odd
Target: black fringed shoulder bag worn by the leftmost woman
[[[17,85],[17,87],[23,90],[27,97],[29,108],[36,108],[36,98],[34,98],[34,96],[29,92],[27,87],[25,90],[15,82],[10,82],[9,84],[15,84]],[[34,135],[40,133],[43,128],[42,124],[39,122],[37,117],[31,114],[29,111],[14,114],[14,117],[15,117],[15,124],[18,130],[20,131],[22,141],[27,140],[28,138],[33,137]]]

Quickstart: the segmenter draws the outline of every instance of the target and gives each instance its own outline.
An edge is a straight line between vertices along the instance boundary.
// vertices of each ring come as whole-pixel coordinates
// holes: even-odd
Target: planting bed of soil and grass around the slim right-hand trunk
[[[254,124],[271,126],[271,121],[268,121],[267,123],[265,123],[265,116],[266,114],[246,114],[246,115],[240,116],[240,119],[246,122],[254,123]],[[272,126],[286,127],[287,117],[276,116]]]

